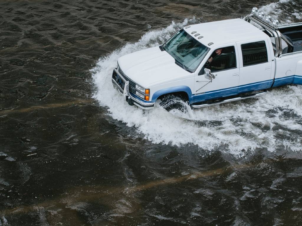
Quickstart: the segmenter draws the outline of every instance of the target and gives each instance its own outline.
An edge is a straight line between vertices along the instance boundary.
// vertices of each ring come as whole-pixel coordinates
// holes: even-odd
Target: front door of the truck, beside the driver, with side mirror
[[[221,50],[216,55],[216,50]],[[213,51],[214,50],[214,51]],[[228,46],[217,46],[206,56],[211,62],[206,62],[199,70],[196,70],[194,84],[194,102],[216,99],[237,94],[239,84],[239,60],[236,43]],[[204,68],[217,75],[208,83],[204,77]]]

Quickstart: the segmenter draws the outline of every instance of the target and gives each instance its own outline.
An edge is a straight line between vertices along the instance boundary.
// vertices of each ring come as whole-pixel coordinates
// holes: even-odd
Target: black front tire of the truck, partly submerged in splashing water
[[[162,106],[166,111],[179,110],[182,112],[187,112],[189,107],[187,98],[173,94],[162,96],[160,98],[159,105]]]

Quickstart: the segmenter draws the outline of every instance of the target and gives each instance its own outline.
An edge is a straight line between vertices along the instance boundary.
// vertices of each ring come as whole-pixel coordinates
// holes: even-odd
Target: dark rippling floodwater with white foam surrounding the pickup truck
[[[117,58],[300,0],[0,1],[0,226],[301,225],[302,86],[167,112],[113,89]]]

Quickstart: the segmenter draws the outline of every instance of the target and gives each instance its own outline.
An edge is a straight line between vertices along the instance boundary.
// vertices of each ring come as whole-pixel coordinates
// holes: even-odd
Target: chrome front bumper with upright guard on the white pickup
[[[119,83],[114,79],[115,74],[118,75],[119,79],[122,80],[124,84],[124,89],[122,88],[122,84]],[[129,81],[127,81],[119,71],[117,71],[116,68],[114,68],[112,73],[112,84],[114,87],[116,87],[118,90],[120,90],[121,93],[124,94],[125,100],[128,102],[129,105],[137,105],[138,107],[144,109],[144,110],[151,110],[154,108],[154,102],[144,101],[140,99],[138,96],[136,96],[133,93],[129,92]]]

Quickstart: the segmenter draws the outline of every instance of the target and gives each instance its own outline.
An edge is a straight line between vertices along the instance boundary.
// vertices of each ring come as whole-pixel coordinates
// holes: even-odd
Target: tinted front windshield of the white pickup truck
[[[175,59],[175,63],[190,72],[196,70],[210,50],[183,29],[163,44],[162,48]]]

